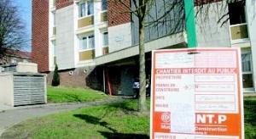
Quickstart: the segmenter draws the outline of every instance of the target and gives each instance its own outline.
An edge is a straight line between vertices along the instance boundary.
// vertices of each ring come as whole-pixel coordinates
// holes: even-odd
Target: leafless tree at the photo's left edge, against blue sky
[[[11,0],[0,1],[0,59],[20,50],[26,42],[25,26]]]

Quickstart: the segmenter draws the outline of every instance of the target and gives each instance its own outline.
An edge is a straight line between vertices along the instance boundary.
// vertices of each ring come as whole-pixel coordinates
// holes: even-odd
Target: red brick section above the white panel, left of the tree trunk
[[[125,5],[131,7],[130,0],[123,0]],[[122,25],[131,22],[131,14],[128,8],[116,0],[108,0],[108,26]],[[126,13],[125,13],[126,12]]]

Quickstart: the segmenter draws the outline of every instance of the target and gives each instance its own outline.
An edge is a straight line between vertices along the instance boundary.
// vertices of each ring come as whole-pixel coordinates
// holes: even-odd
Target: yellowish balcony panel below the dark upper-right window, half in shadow
[[[249,42],[247,23],[230,25],[231,44]]]

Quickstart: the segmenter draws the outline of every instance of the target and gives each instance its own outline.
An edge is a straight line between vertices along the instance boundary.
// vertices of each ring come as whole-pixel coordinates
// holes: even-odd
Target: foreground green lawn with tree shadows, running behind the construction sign
[[[127,100],[52,114],[15,125],[3,138],[148,138],[149,113],[136,108],[136,100]],[[245,100],[245,130],[246,139],[256,138],[256,98]]]

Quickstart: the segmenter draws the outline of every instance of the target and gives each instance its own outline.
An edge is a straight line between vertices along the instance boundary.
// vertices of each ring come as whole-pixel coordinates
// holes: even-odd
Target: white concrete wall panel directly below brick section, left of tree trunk
[[[108,28],[109,53],[131,47],[131,22]]]

